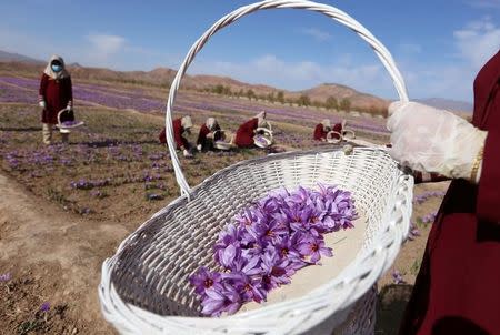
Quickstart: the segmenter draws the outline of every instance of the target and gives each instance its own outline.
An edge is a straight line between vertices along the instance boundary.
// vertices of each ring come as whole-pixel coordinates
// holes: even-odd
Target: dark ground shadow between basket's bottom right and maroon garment
[[[392,284],[382,287],[377,302],[377,335],[398,334],[412,290],[413,285],[408,284]]]

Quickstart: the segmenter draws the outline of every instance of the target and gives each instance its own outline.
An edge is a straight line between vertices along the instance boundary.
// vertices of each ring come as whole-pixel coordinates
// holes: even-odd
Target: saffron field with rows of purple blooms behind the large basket
[[[32,78],[0,77],[0,175],[11,180],[16,187],[22,187],[29,196],[50,204],[54,215],[64,213],[60,215],[80,225],[106,224],[126,233],[179,196],[170,155],[158,142],[164,122],[167,90],[92,84],[73,79],[76,115],[86,125],[72,131],[68,145],[60,143],[54,131],[56,143],[46,146],[41,142],[38,84]],[[193,118],[191,143],[208,116],[216,116],[222,129],[234,132],[240,123],[261,110],[268,112],[277,146],[282,150],[331,145],[311,140],[313,126],[327,118],[332,122],[346,119],[347,126],[361,139],[377,143],[389,141],[386,121],[367,115],[193,91],[181,91],[174,104],[176,116]],[[257,149],[196,153],[193,159],[181,158],[181,164],[190,184],[196,185],[224,166],[266,154],[267,151]],[[398,327],[447,186],[446,182],[416,186],[409,241],[390,273],[379,282],[377,334],[394,334]],[[16,227],[10,225],[10,219],[1,220],[0,242],[9,243]],[[86,283],[90,283],[87,294],[96,293],[99,264],[111,256],[121,237],[93,254],[96,267],[87,270]],[[88,236],[82,234],[79,238]],[[43,254],[47,250],[39,252]],[[72,281],[62,276],[54,265],[24,264],[21,256],[0,258],[0,329],[8,329],[6,334],[112,334],[104,322],[92,323],[81,316],[87,305],[59,294],[58,277]],[[100,315],[92,302],[93,315]]]

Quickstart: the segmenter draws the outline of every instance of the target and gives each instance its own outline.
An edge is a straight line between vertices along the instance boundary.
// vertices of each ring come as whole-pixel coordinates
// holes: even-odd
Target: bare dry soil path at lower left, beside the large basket
[[[118,223],[66,213],[0,174],[0,272],[32,275],[39,296],[68,304],[80,334],[113,333],[101,317],[97,287],[102,261],[128,233]]]

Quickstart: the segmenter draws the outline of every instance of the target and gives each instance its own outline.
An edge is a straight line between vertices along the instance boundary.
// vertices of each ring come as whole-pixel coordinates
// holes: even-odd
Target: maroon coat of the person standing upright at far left
[[[39,101],[46,102],[41,121],[57,124],[58,113],[68,105],[73,105],[71,77],[53,79],[43,73],[40,80]]]

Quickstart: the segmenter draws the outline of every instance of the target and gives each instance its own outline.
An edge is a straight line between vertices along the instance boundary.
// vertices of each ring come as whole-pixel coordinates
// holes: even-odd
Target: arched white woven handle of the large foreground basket
[[[177,92],[180,87],[180,82],[186,71],[188,70],[189,64],[194,59],[194,55],[203,48],[203,45],[208,42],[208,40],[220,29],[224,28],[233,23],[234,21],[241,19],[242,17],[258,11],[262,9],[272,9],[272,8],[292,8],[292,9],[304,9],[310,11],[316,11],[322,13],[334,21],[342,23],[349,29],[353,30],[361,39],[363,39],[374,51],[377,57],[382,62],[386,70],[389,72],[392,78],[396,90],[398,91],[399,99],[403,102],[408,101],[408,93],[404,85],[404,80],[397,68],[394,60],[392,59],[391,53],[386,47],[376,38],[373,34],[366,29],[361,23],[357,20],[344,13],[343,11],[331,7],[329,4],[317,3],[307,0],[266,0],[248,6],[243,6],[233,12],[222,17],[219,21],[217,21],[212,27],[210,27],[196,42],[192,44],[188,54],[186,55],[182,64],[179,68],[179,71],[176,74],[176,78],[172,81],[169,92],[169,99],[167,101],[167,113],[166,113],[166,129],[167,129],[167,144],[170,151],[170,156],[172,159],[173,170],[176,172],[176,180],[180,186],[181,194],[186,194],[189,196],[191,189],[186,180],[184,174],[182,173],[182,168],[180,166],[179,156],[177,155],[176,144],[173,140],[173,126],[172,126],[172,106],[173,101],[176,100]]]

